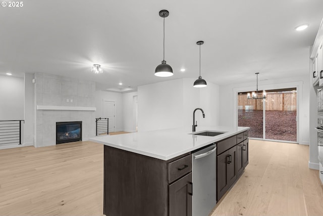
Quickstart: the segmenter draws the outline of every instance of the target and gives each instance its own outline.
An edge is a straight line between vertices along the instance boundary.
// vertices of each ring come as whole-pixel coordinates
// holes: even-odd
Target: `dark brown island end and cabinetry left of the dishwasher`
[[[192,158],[160,160],[104,146],[106,216],[192,215]]]

